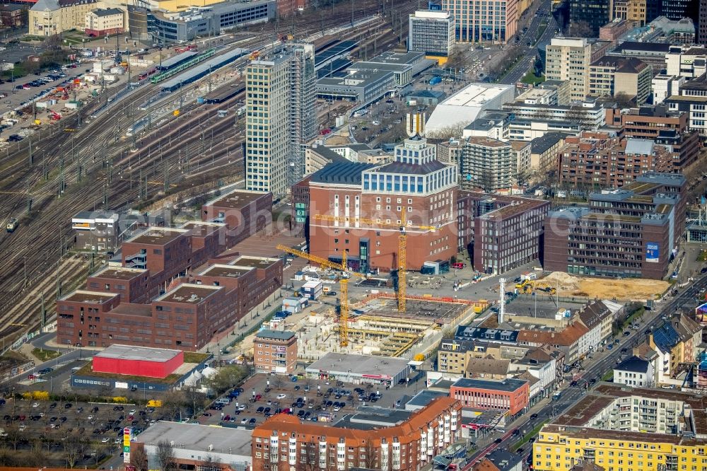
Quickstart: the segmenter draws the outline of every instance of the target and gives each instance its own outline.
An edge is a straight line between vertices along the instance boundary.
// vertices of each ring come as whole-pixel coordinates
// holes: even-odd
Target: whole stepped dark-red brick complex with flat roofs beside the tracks
[[[282,286],[282,261],[214,257],[271,220],[271,196],[236,190],[206,204],[204,221],[148,228],[125,241],[122,267],[57,301],[57,342],[197,350]],[[242,228],[240,226],[245,226]]]

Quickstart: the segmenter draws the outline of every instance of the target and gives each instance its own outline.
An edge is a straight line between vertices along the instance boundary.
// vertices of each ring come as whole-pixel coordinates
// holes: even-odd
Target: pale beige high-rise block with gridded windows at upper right
[[[584,100],[589,91],[591,59],[592,45],[585,37],[553,37],[546,48],[545,76],[548,80],[569,81],[571,100]]]

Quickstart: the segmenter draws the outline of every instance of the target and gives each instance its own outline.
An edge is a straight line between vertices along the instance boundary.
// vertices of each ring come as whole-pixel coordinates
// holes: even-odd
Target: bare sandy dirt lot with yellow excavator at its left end
[[[556,286],[559,296],[637,301],[655,299],[656,295],[662,295],[670,286],[667,281],[656,279],[575,277],[562,272],[552,272],[543,280],[550,286]]]

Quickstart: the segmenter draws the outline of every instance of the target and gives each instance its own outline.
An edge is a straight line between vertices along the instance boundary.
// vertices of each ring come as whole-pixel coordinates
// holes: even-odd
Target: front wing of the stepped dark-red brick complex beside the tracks
[[[103,281],[108,281],[104,286]],[[180,277],[148,298],[145,272],[108,267],[88,288],[57,300],[57,342],[76,347],[111,344],[197,351],[226,335],[243,315],[282,286],[282,261],[236,257],[194,277]],[[111,284],[108,286],[108,284]]]

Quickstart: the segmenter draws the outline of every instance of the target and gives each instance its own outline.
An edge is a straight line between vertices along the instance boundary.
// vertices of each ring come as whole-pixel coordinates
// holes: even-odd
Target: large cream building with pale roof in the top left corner
[[[99,5],[95,0],[39,0],[29,11],[29,33],[52,36],[71,29],[83,30],[86,14]]]

